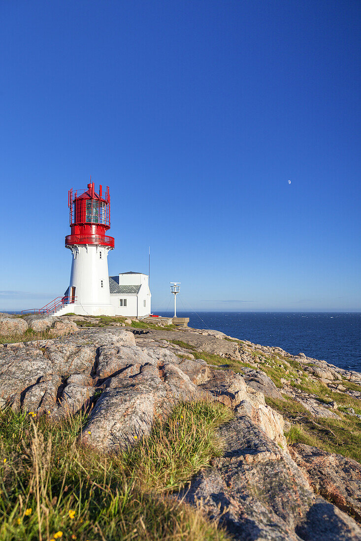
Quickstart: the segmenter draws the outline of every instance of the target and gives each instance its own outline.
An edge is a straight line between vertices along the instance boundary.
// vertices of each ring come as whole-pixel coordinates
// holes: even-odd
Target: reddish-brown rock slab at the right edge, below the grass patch
[[[361,464],[310,445],[295,444],[289,451],[316,493],[361,522]]]

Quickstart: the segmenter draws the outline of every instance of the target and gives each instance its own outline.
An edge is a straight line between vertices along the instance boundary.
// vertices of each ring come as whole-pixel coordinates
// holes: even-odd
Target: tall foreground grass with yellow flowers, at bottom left
[[[0,411],[1,541],[225,541],[169,492],[221,453],[221,404],[178,404],[137,447],[105,456],[79,445],[84,415],[61,423]],[[58,537],[56,534],[58,533]]]

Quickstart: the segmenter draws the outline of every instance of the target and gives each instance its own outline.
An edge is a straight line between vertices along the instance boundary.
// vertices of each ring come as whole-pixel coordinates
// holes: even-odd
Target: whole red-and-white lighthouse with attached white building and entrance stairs
[[[69,287],[42,308],[25,312],[64,315],[122,315],[145,318],[151,313],[149,276],[141,272],[108,274],[108,253],[114,239],[107,236],[110,228],[109,187],[105,193],[94,182],[87,190],[68,193],[70,235],[65,247],[72,253]]]

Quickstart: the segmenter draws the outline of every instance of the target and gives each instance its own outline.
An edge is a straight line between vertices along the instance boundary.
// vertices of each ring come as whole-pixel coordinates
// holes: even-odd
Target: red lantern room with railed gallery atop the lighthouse
[[[110,228],[110,197],[109,187],[102,194],[95,192],[94,182],[88,184],[88,189],[74,193],[69,190],[68,206],[69,221],[72,233],[65,237],[65,246],[93,244],[114,248],[114,239],[105,235]]]

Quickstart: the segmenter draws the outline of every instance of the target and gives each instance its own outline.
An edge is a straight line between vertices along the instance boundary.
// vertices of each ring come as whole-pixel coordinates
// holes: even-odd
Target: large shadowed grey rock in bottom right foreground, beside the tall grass
[[[361,539],[354,520],[316,497],[291,457],[248,417],[235,417],[219,433],[223,457],[199,472],[179,498],[202,502],[242,541]]]

